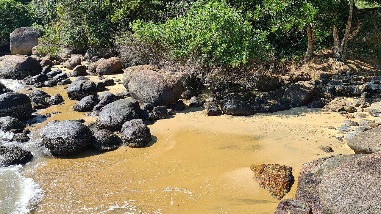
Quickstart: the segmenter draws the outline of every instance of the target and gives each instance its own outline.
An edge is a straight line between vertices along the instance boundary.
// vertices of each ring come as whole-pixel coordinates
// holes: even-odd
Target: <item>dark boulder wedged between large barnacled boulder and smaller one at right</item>
[[[121,143],[120,138],[107,129],[97,131],[93,137],[93,148],[98,152],[115,150]]]

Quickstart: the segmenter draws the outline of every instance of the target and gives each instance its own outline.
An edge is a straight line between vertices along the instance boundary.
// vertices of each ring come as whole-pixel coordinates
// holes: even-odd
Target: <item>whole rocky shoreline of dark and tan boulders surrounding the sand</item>
[[[122,81],[117,76],[104,77],[121,76],[122,72]],[[49,120],[37,130],[47,153],[58,158],[76,155],[86,149],[112,151],[121,144],[144,147],[154,137],[147,125],[181,113],[186,104],[191,108],[206,109],[206,116],[213,117],[221,113],[232,116],[274,113],[304,105],[338,112],[343,116],[343,125],[322,128],[337,129],[339,136],[335,138],[340,142],[346,140],[356,154],[332,155],[303,164],[295,198],[280,201],[275,213],[380,212],[375,201],[379,191],[369,192],[369,189],[373,189],[374,181],[380,179],[375,171],[380,159],[378,136],[381,128],[378,127],[381,120],[376,118],[381,113],[381,76],[320,73],[319,79],[311,81],[307,73],[296,72],[289,78],[262,77],[255,87],[241,88],[203,84],[197,78],[187,77],[184,72],[172,72],[168,67],[159,68],[155,64],[124,68],[118,57],[103,59],[86,53],[68,54],[62,58],[2,56],[0,77],[22,79],[25,85],[34,88],[30,88],[31,93],[24,94],[0,85],[0,130],[14,134],[13,139],[6,141],[29,141],[28,134],[37,124],[25,124],[25,121],[36,117],[36,112],[41,109],[65,104],[68,101],[63,97],[66,96],[78,101],[72,105],[73,111],[96,117],[86,123],[83,118]],[[94,78],[100,81],[94,82]],[[117,84],[123,84],[125,89],[120,93],[107,92],[110,86]],[[64,86],[67,94],[53,95],[43,90],[58,86]],[[213,95],[199,97],[199,92],[206,88]],[[52,114],[46,113],[42,117],[49,118]],[[97,131],[94,133],[91,128]],[[324,145],[321,149],[330,153],[336,148]],[[0,146],[0,165],[3,167],[25,164],[31,159],[32,153],[21,147]],[[277,200],[282,200],[290,191],[294,178],[291,167],[279,164],[253,165],[250,169],[261,187]],[[352,195],[356,195],[357,200],[353,200]]]

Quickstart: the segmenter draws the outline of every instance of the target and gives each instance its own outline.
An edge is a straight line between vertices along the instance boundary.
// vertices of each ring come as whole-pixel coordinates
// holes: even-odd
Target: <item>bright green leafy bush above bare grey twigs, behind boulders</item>
[[[246,65],[266,58],[267,34],[243,20],[240,10],[220,0],[198,0],[186,16],[164,23],[135,21],[134,37],[171,59],[192,59],[204,65]]]

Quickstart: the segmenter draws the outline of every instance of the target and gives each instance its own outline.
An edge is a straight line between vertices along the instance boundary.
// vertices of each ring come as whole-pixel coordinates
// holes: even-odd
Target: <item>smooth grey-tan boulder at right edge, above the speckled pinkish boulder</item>
[[[369,154],[380,151],[381,147],[381,128],[374,128],[364,131],[347,142],[356,153]]]

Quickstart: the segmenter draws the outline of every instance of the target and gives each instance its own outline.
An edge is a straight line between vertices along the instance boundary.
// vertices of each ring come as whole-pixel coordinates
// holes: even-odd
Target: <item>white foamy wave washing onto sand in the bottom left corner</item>
[[[20,172],[21,167],[22,165],[20,164],[0,168],[0,176],[11,175],[11,177],[3,178],[3,185],[9,185],[16,188],[13,189],[13,192],[18,193],[8,193],[8,197],[10,197],[9,203],[14,204],[14,206],[11,206],[9,212],[7,212],[10,214],[29,213],[29,211],[34,209],[45,195],[45,191],[42,190],[40,185],[34,182],[31,178],[22,176]],[[0,179],[0,181],[1,180],[2,179]],[[1,195],[7,195],[7,193],[2,192]],[[14,201],[16,202],[14,203]]]

